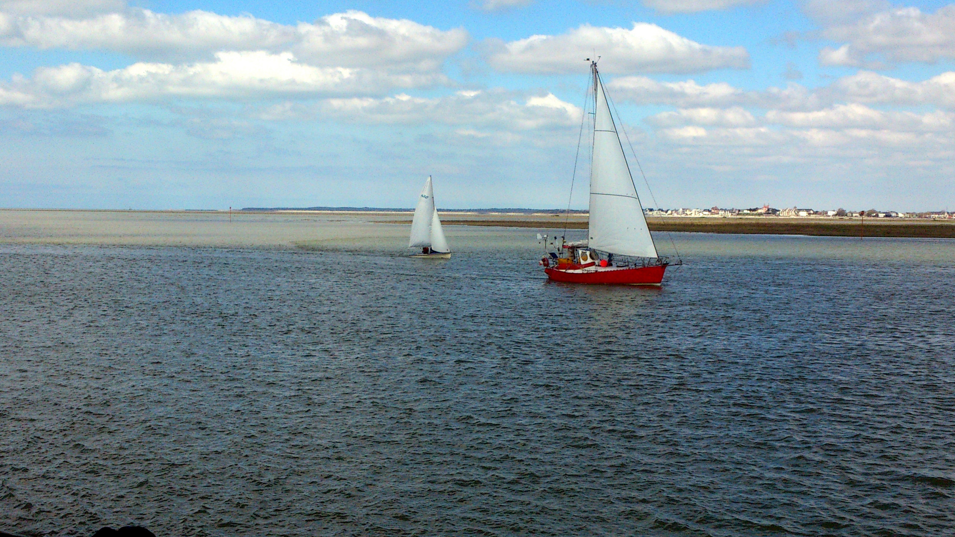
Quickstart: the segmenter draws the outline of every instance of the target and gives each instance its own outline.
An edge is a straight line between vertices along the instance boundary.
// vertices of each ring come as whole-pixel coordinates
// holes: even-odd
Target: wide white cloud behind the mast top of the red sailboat
[[[750,56],[743,47],[701,45],[655,24],[633,28],[583,25],[560,35],[489,43],[488,63],[510,73],[556,75],[581,73],[584,58],[603,56],[605,73],[693,73],[712,69],[743,69]]]

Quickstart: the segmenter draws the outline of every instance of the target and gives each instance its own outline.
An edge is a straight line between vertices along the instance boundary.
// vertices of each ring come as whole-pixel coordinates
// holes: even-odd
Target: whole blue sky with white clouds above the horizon
[[[0,0],[0,207],[585,208],[593,56],[645,206],[955,209],[955,4],[882,0]]]

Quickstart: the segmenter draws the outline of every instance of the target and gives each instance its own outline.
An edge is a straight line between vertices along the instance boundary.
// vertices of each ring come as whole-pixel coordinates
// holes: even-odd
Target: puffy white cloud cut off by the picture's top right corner
[[[822,49],[819,61],[823,65],[880,68],[885,62],[934,63],[952,59],[955,6],[945,6],[934,13],[923,13],[918,8],[881,11],[826,28],[822,36],[845,42],[836,49]]]

